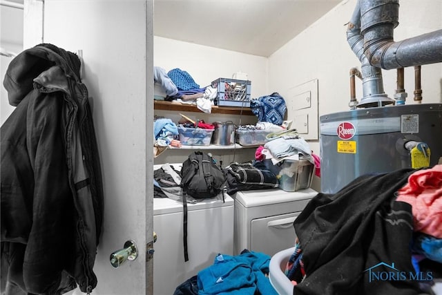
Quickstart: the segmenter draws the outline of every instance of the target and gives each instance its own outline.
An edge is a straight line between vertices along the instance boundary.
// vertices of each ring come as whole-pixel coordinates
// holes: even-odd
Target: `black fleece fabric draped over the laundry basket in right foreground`
[[[296,295],[418,294],[415,280],[369,281],[379,263],[414,272],[411,206],[394,193],[414,169],[363,175],[335,194],[318,193],[296,218],[306,277]],[[390,271],[378,265],[373,271]]]

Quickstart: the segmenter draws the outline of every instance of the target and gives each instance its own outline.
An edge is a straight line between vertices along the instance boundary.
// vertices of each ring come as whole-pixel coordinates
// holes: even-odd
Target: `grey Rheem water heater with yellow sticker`
[[[442,104],[362,108],[320,116],[321,191],[336,193],[360,175],[412,167],[409,142],[442,157]]]

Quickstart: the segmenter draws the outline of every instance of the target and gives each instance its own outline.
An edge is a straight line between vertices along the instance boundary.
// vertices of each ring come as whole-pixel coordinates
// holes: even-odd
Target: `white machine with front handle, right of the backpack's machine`
[[[238,191],[233,196],[233,254],[248,249],[273,256],[293,247],[296,239],[293,222],[317,193],[314,189]]]

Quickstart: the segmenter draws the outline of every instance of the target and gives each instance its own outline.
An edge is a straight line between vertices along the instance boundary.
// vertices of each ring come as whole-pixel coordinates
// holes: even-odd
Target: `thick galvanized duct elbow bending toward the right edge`
[[[361,0],[361,33],[369,63],[390,70],[442,61],[442,30],[395,42],[398,0]]]

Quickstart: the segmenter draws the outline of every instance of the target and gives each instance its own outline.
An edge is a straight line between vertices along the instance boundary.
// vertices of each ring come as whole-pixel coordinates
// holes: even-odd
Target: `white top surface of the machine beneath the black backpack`
[[[201,200],[201,202],[187,203],[187,211],[202,210],[208,208],[219,208],[233,206],[233,199],[224,193],[224,202],[218,198]],[[153,198],[153,215],[182,212],[182,202],[169,198]]]

